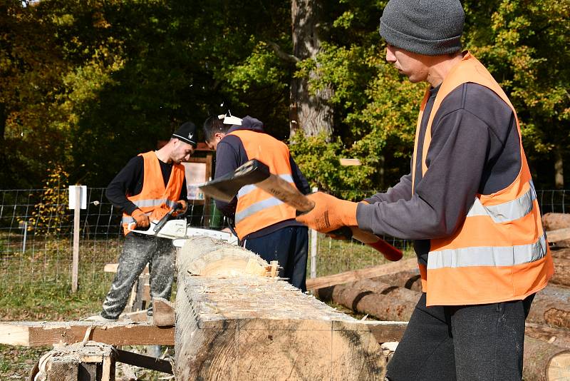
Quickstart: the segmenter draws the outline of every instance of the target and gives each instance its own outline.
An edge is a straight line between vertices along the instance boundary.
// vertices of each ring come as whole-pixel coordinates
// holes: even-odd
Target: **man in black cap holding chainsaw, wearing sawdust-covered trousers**
[[[133,225],[139,230],[148,228],[150,220],[160,220],[177,203],[181,208],[172,215],[186,212],[185,168],[181,163],[190,159],[196,144],[196,126],[186,122],[172,133],[165,146],[130,159],[110,182],[106,195],[113,205],[123,210],[125,244],[103,310],[88,320],[117,320],[147,263],[150,268],[150,296],[170,298],[174,277],[172,240],[130,230],[135,229]],[[152,315],[152,308],[147,314]]]

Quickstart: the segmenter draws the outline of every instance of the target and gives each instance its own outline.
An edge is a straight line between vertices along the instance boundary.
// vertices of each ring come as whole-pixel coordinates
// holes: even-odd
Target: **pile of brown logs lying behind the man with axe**
[[[570,380],[570,249],[552,250],[552,256],[555,275],[537,293],[527,318],[524,380]],[[419,273],[406,270],[322,288],[316,295],[380,320],[408,321],[420,292]]]

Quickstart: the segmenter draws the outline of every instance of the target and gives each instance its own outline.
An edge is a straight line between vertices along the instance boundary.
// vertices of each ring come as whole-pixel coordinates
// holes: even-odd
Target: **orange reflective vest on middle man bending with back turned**
[[[266,133],[251,130],[237,130],[228,133],[237,136],[244,145],[247,159],[257,159],[269,171],[295,186],[289,163],[289,148],[286,144]],[[274,198],[257,186],[244,186],[237,193],[236,233],[240,240],[246,235],[269,225],[295,218],[295,209]]]

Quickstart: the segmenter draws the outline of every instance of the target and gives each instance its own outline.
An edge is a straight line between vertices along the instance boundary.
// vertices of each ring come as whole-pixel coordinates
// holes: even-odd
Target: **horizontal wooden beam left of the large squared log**
[[[174,345],[174,327],[145,322],[0,322],[0,343],[39,347],[59,342],[73,344],[93,327],[90,340],[110,345]]]

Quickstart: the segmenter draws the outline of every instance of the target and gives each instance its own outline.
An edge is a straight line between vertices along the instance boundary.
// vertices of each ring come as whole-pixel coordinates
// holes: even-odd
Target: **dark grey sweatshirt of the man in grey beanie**
[[[435,114],[422,176],[423,138],[439,88],[430,92],[420,126],[412,194],[411,173],[386,193],[359,204],[358,225],[379,235],[415,240],[420,263],[427,264],[430,239],[455,233],[475,195],[509,186],[521,168],[517,123],[497,94],[476,83],[453,90]]]

